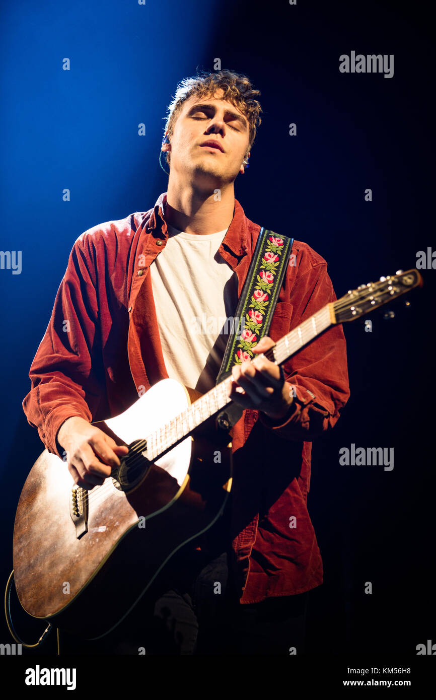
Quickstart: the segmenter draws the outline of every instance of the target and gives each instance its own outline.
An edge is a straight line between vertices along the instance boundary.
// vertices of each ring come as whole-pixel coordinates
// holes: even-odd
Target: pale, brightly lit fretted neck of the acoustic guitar
[[[326,304],[320,311],[310,316],[307,321],[300,323],[297,328],[284,335],[264,354],[267,359],[277,365],[282,365],[304,345],[307,345],[335,323],[333,304]],[[223,379],[187,409],[171,419],[169,423],[148,435],[146,438],[147,458],[150,461],[155,461],[158,457],[163,456],[167,451],[176,447],[176,444],[185,440],[185,437],[188,437],[192,430],[199,428],[202,423],[230,404],[232,401],[227,396],[227,386],[231,381],[231,376]]]

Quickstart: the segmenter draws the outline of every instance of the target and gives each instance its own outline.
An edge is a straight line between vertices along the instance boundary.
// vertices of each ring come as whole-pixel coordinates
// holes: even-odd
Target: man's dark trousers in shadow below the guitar
[[[174,555],[110,642],[112,653],[304,652],[307,593],[241,605],[227,552],[204,558],[185,548]]]

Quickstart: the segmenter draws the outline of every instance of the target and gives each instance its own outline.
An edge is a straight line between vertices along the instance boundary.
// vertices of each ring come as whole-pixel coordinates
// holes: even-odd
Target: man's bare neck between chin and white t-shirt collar
[[[176,186],[171,177],[168,183],[165,220],[179,231],[207,235],[229,228],[234,211],[233,183],[216,193],[199,191],[187,185]]]

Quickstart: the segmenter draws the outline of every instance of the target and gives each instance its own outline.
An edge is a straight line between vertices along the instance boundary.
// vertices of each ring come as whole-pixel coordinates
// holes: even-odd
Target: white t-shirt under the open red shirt
[[[217,252],[227,229],[168,232],[150,265],[164,363],[171,379],[204,393],[216,384],[238,302],[237,274]]]

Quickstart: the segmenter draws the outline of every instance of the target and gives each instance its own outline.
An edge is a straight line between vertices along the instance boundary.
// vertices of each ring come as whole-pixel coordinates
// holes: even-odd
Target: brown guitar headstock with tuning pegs
[[[393,276],[380,277],[378,282],[362,284],[333,302],[336,322],[353,321],[422,284],[423,279],[417,269],[408,269],[407,272],[398,270]]]

